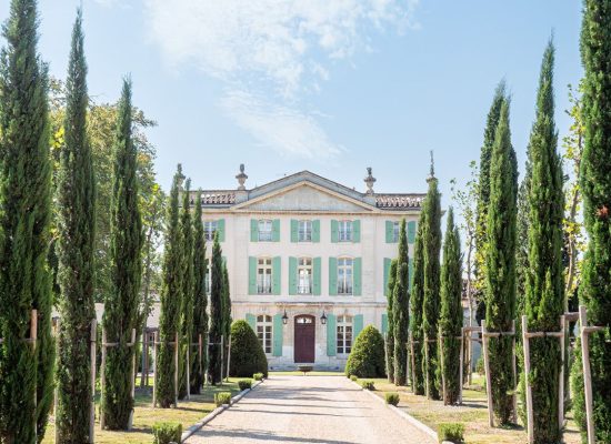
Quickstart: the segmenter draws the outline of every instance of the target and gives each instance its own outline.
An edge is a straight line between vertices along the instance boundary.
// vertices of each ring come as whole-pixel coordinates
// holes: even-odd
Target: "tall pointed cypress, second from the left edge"
[[[62,443],[89,440],[90,324],[93,307],[96,179],[87,138],[87,63],[81,11],[72,31],[66,100],[66,144],[58,173],[58,283],[61,319],[56,427]]]

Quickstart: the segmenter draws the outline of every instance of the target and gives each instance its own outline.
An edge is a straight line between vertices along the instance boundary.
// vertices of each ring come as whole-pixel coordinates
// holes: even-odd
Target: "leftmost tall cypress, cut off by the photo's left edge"
[[[12,0],[0,61],[0,441],[33,443],[52,401],[47,67],[36,0]],[[24,346],[38,310],[36,351]],[[38,406],[34,405],[34,394]]]

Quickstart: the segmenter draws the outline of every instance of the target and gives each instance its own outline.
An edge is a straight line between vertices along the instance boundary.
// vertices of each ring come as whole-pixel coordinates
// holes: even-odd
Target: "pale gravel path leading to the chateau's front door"
[[[272,376],[189,444],[433,444],[342,376]]]

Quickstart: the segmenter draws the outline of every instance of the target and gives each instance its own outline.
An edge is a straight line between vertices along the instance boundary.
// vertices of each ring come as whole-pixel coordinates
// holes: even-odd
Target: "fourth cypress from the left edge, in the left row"
[[[161,287],[161,316],[159,319],[159,352],[157,354],[154,383],[157,400],[163,408],[174,403],[174,339],[180,333],[180,307],[182,295],[182,233],[179,225],[179,188],[182,183],[182,167],[178,164],[170,191],[170,204],[166,219],[163,251],[163,283]]]

